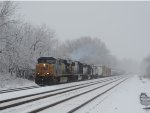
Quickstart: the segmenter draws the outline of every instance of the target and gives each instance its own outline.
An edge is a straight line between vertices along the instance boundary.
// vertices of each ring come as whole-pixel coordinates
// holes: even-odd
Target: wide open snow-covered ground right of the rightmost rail
[[[150,94],[150,80],[134,75],[107,95],[101,96],[77,113],[150,113],[140,103],[140,94]]]

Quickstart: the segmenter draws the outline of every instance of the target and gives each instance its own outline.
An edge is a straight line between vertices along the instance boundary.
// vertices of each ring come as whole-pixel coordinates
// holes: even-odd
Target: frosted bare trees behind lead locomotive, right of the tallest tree
[[[33,26],[29,23],[20,24],[18,31],[18,40],[14,45],[18,56],[13,59],[16,73],[20,70],[35,69],[37,58],[40,56],[53,56],[55,31],[45,25]]]

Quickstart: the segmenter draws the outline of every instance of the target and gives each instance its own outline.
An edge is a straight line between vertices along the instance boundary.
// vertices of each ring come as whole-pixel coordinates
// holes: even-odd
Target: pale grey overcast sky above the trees
[[[119,59],[150,54],[150,2],[19,2],[26,22],[46,24],[60,40],[99,37]]]

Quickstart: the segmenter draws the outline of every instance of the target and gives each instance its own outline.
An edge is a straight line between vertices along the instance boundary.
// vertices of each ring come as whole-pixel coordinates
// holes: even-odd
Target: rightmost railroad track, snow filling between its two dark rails
[[[55,113],[60,113],[60,112],[61,113],[73,113],[76,110],[80,109],[81,107],[85,106],[86,104],[90,103],[94,99],[98,98],[99,96],[104,95],[105,93],[107,93],[114,87],[118,86],[125,80],[126,79],[112,81],[112,82],[109,82],[102,86],[93,88],[91,90],[85,91],[83,93],[74,95],[69,98],[66,98],[64,100],[61,100],[61,101],[49,104],[47,106],[32,110],[30,112],[27,111],[27,112],[29,112],[29,113],[37,113],[37,112],[51,113],[51,112],[55,111]],[[105,89],[104,87],[105,88],[107,87],[107,89]],[[99,91],[100,91],[100,93],[99,93]],[[96,92],[95,95],[93,95],[93,92]],[[88,95],[88,96],[86,96],[86,95]],[[89,97],[89,98],[87,98],[87,97]],[[63,108],[63,110],[62,110],[62,108]]]

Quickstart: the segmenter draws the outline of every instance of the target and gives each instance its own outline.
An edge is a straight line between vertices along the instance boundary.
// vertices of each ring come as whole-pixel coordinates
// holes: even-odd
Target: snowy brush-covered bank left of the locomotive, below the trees
[[[17,78],[15,76],[11,76],[10,74],[0,73],[0,90],[28,86],[36,86],[36,84],[27,79]]]

